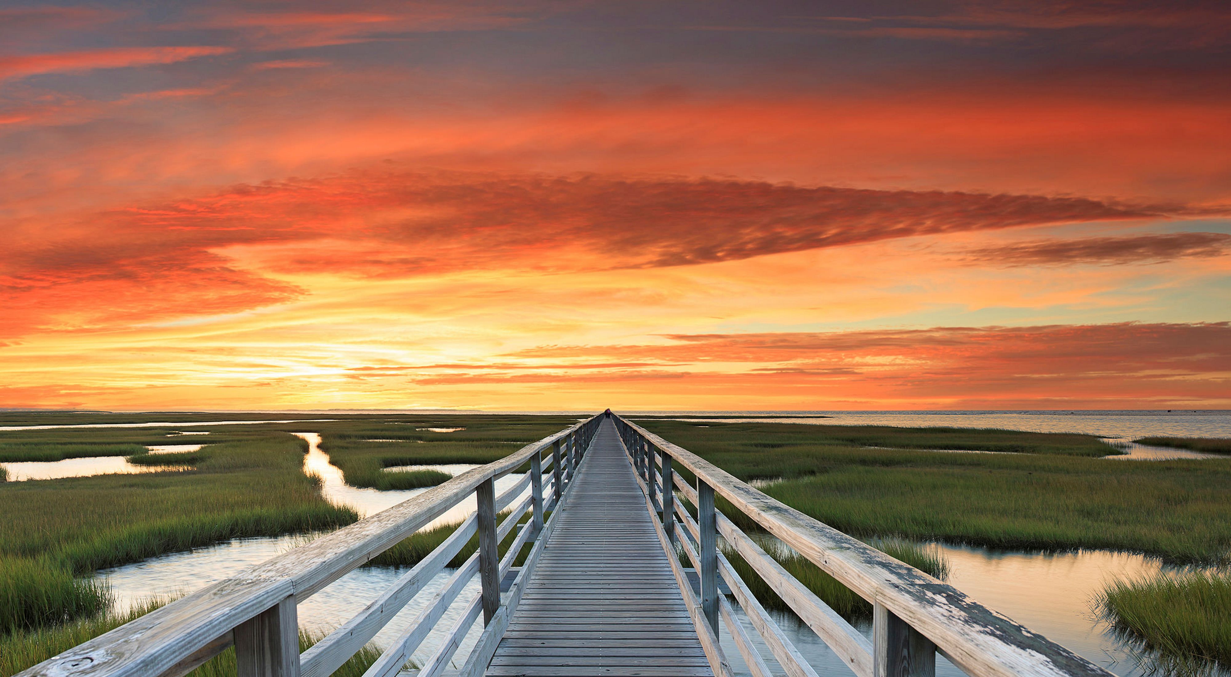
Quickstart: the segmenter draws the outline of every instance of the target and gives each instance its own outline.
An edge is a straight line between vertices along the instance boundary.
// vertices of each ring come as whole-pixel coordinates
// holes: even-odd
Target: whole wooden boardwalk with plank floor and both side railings
[[[665,515],[697,571],[699,593],[686,579],[691,571],[671,559],[675,553],[664,551],[666,535],[656,524],[661,517],[646,508],[625,446],[645,474],[646,491],[678,494],[694,506],[691,513],[668,501]],[[651,474],[656,459],[662,473]],[[515,474],[519,479],[496,492],[496,480],[526,465],[528,473]],[[694,480],[684,481],[684,474]],[[873,607],[872,636],[718,512],[719,496],[734,511],[731,517],[739,513],[739,521],[757,523],[867,599]],[[300,652],[295,628],[304,599],[471,497],[478,510],[452,535]],[[544,511],[553,506],[544,523]],[[462,566],[447,567],[475,537],[478,551]],[[734,655],[723,650],[726,638],[755,677],[816,677],[794,644],[795,633],[784,631],[761,606],[719,550],[719,537],[747,563],[751,571],[745,575],[769,586],[808,627],[805,641],[824,641],[853,677],[934,677],[938,654],[970,677],[1113,677],[961,591],[609,410],[171,602],[17,677],[183,677],[230,646],[240,677],[325,677],[400,617],[411,599],[423,597],[415,619],[364,677],[734,677],[740,666],[732,670]],[[499,544],[510,538],[501,555]],[[529,554],[516,567],[524,547]],[[427,595],[427,583],[441,574],[448,580]],[[479,581],[478,591],[473,580]],[[503,595],[502,581],[508,582]],[[458,606],[460,618],[443,623]],[[480,619],[479,640],[457,656]],[[403,672],[433,633],[441,639],[431,656],[416,661],[416,671]]]

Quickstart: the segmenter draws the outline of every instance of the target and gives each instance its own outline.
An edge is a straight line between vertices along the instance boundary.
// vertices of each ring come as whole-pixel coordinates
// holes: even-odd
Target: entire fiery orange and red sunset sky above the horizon
[[[1220,1],[0,0],[0,407],[1231,409]]]

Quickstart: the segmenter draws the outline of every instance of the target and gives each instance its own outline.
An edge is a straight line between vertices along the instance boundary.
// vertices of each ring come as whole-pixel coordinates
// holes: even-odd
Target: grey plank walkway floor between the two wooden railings
[[[569,491],[486,673],[712,677],[611,421]]]

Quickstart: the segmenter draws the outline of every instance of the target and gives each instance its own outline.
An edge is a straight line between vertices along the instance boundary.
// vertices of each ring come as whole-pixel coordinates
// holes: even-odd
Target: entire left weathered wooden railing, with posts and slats
[[[463,473],[389,510],[155,609],[43,661],[20,677],[178,677],[231,645],[235,646],[239,677],[325,677],[375,636],[476,533],[478,551],[452,574],[367,676],[396,675],[475,575],[481,590],[467,602],[462,618],[419,675],[439,675],[480,613],[484,630],[467,657],[462,676],[483,675],[517,608],[528,571],[533,570],[551,532],[555,512],[547,521],[544,515],[567,499],[570,480],[599,421],[601,416],[595,416],[527,444],[495,463]],[[548,458],[544,459],[545,453]],[[529,471],[497,496],[495,480],[527,462]],[[355,618],[299,652],[298,603],[400,543],[471,494],[476,499],[475,513],[448,539]],[[497,516],[506,510],[507,517],[497,524]],[[500,558],[499,544],[527,513],[529,518]],[[501,580],[528,543],[533,547],[501,603]]]

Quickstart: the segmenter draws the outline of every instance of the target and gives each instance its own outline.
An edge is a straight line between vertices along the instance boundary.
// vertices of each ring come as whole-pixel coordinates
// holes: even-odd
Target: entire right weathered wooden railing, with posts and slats
[[[936,655],[972,677],[1108,677],[1110,673],[1067,649],[974,602],[956,588],[766,496],[712,463],[619,416],[617,430],[657,517],[676,577],[675,548],[683,550],[700,579],[699,596],[681,585],[698,623],[698,635],[716,677],[731,675],[718,645],[719,618],[753,677],[771,677],[734,609],[719,593],[730,587],[751,625],[789,677],[816,677],[785,633],[757,602],[718,548],[721,537],[857,677],[932,677]],[[676,469],[697,478],[691,486]],[[677,506],[688,500],[697,518]],[[796,581],[756,540],[714,507],[721,496],[735,510],[789,545],[873,604],[872,640]],[[885,496],[891,501],[892,496]],[[1041,591],[1040,591],[1041,592]]]

